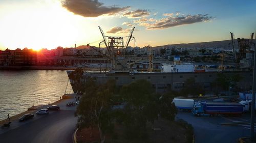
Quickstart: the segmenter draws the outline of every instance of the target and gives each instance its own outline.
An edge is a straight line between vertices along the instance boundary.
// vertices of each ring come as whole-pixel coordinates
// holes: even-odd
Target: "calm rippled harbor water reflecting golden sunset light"
[[[68,83],[66,71],[0,70],[0,120],[28,110],[34,105],[59,100]],[[70,82],[67,92],[73,93]]]

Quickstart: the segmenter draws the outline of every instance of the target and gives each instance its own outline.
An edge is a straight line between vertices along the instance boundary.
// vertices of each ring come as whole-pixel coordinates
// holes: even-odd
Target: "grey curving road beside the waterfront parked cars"
[[[13,121],[10,129],[0,129],[0,142],[72,143],[77,122],[74,117],[75,106],[68,108],[65,104],[66,102],[60,103],[61,110],[50,111],[49,115],[35,115],[34,119],[24,123]]]

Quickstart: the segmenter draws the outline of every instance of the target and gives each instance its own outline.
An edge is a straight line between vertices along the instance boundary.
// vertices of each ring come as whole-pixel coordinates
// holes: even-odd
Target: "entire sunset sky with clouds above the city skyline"
[[[0,49],[98,46],[98,26],[124,43],[135,26],[140,47],[249,38],[255,8],[254,0],[1,0]]]

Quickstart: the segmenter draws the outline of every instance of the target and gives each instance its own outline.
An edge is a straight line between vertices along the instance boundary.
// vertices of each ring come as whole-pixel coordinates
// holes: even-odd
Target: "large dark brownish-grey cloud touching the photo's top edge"
[[[98,0],[63,0],[61,4],[62,7],[70,12],[83,17],[98,17],[103,14],[114,15],[130,8],[119,8],[116,6],[106,7],[103,6],[103,3],[98,2]]]

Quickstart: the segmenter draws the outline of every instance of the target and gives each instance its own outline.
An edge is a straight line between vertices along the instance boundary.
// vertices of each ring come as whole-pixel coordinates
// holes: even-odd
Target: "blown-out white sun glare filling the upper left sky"
[[[2,8],[1,45],[34,50],[73,45],[78,37],[73,14],[57,1],[45,2]]]

